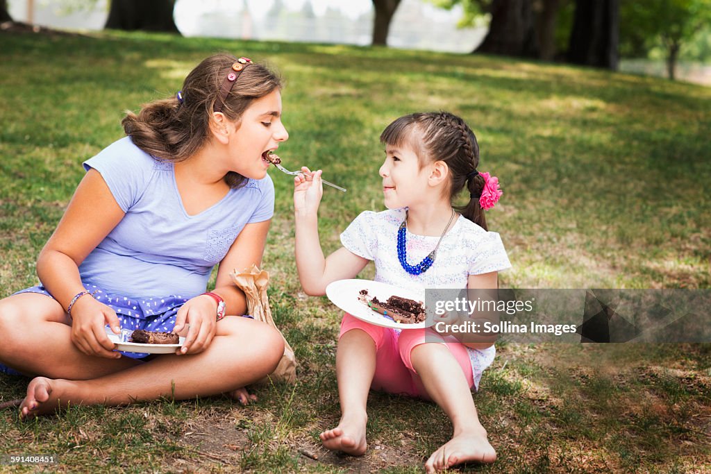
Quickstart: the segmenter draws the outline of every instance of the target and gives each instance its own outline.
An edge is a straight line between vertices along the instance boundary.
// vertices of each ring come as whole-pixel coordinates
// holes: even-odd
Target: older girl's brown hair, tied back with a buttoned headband
[[[160,161],[184,161],[193,156],[210,136],[213,106],[220,100],[220,87],[237,58],[218,54],[205,58],[183,82],[183,102],[177,97],[156,100],[141,107],[138,115],[128,112],[121,124],[139,149]],[[222,113],[239,122],[252,101],[282,87],[282,80],[261,64],[248,65],[225,98]],[[247,182],[234,171],[225,175],[230,188]]]

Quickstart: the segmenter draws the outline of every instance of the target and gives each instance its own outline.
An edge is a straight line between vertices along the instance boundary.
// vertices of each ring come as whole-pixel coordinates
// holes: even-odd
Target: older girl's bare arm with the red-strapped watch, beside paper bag
[[[235,269],[242,271],[252,264],[262,264],[264,244],[267,242],[271,222],[265,220],[245,225],[218,266],[213,293],[225,300],[226,315],[242,315],[247,311],[245,293],[232,283],[230,272]],[[181,353],[196,354],[210,345],[218,325],[215,319],[217,306],[218,303],[211,296],[199,295],[189,299],[178,310],[174,331],[180,333],[186,324],[190,325]]]

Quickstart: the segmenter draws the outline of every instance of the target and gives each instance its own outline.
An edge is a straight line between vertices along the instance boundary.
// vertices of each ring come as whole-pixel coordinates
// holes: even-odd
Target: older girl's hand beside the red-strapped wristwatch
[[[173,333],[184,332],[186,324],[190,329],[176,354],[198,354],[208,348],[217,330],[216,318],[217,302],[212,297],[200,295],[186,301],[178,310]]]

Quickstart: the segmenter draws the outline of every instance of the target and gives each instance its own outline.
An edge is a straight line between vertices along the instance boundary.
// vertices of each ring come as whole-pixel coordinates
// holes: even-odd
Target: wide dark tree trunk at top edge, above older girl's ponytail
[[[111,0],[104,28],[179,33],[173,21],[175,0]]]

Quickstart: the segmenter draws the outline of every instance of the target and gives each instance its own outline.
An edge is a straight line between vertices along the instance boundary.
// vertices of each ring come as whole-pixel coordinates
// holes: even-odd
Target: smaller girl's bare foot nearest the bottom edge
[[[493,463],[496,451],[486,438],[486,431],[463,432],[451,438],[429,456],[424,464],[427,473],[449,469],[453,465],[476,461],[477,463]]]

